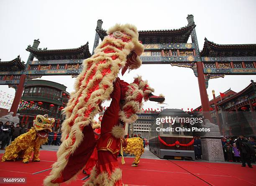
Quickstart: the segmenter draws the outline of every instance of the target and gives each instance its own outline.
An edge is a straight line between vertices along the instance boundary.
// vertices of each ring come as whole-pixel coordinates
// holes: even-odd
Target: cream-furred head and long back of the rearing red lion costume
[[[115,38],[115,32],[122,33],[124,37]],[[101,103],[110,99],[113,82],[118,77],[120,69],[125,66],[131,51],[136,53],[137,63],[131,64],[129,68],[139,68],[142,63],[139,55],[143,53],[144,47],[138,41],[135,26],[116,24],[108,30],[108,34],[95,49],[95,54],[83,61],[82,73],[77,77],[74,92],[71,93],[67,107],[64,108],[66,119],[61,127],[62,143],[57,152],[58,160],[53,164],[49,176],[45,178],[45,186],[59,185],[51,181],[61,175],[61,171],[67,166],[69,155],[74,153],[82,142],[84,126],[90,125],[95,115],[102,110]]]

